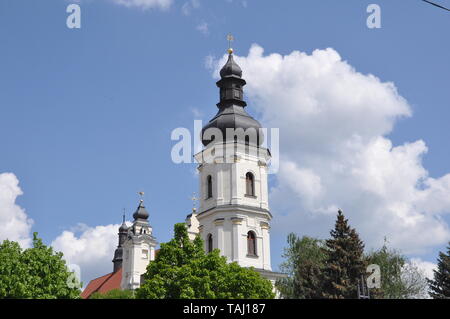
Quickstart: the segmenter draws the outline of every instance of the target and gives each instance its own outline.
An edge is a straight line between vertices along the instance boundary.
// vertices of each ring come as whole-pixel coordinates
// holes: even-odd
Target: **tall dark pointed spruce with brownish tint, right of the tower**
[[[341,210],[330,234],[331,238],[326,241],[323,297],[357,298],[358,280],[366,270],[364,244],[356,230],[350,228]]]

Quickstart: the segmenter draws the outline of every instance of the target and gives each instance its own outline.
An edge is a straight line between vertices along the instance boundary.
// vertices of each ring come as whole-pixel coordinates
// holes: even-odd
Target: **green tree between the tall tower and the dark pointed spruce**
[[[326,251],[324,241],[291,233],[284,249],[280,270],[288,275],[277,280],[280,295],[286,299],[322,298],[322,271]]]

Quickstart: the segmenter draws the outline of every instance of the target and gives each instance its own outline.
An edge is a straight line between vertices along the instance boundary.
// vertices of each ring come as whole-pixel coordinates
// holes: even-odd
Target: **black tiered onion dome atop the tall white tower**
[[[242,70],[239,65],[234,61],[233,55],[228,55],[228,61],[220,70],[221,79],[216,83],[220,89],[220,102],[217,103],[219,111],[208,124],[202,129],[202,143],[208,145],[211,143],[211,139],[208,134],[205,135],[205,131],[209,128],[217,128],[221,131],[224,141],[232,141],[235,139],[233,136],[226,136],[227,128],[231,129],[243,129],[251,137],[245,136],[244,141],[249,144],[261,145],[263,142],[263,135],[260,132],[261,124],[250,116],[244,109],[247,103],[244,101],[243,87],[246,84],[245,80],[241,78]],[[249,130],[250,129],[250,130]],[[213,132],[213,131],[212,131]],[[214,135],[214,134],[212,134]],[[212,140],[214,140],[212,136]]]

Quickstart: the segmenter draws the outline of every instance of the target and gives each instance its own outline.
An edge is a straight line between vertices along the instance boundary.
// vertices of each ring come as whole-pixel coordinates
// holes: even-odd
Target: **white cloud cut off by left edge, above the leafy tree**
[[[16,204],[17,196],[22,194],[16,175],[0,174],[0,242],[9,239],[28,248],[31,245],[33,220]]]

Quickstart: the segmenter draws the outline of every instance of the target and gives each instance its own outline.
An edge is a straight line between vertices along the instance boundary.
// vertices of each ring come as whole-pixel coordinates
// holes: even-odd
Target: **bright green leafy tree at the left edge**
[[[0,298],[79,298],[79,282],[69,272],[62,253],[55,253],[33,234],[33,247],[0,244]]]

